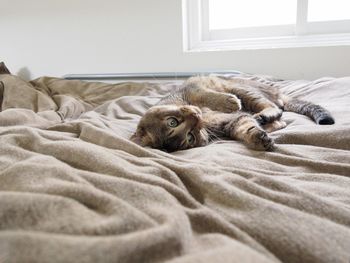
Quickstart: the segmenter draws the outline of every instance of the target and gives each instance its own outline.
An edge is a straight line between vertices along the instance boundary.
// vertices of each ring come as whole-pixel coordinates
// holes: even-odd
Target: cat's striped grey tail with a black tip
[[[285,111],[291,111],[308,116],[320,125],[334,124],[334,118],[332,117],[331,113],[320,105],[290,97],[283,98],[283,101],[283,108]]]

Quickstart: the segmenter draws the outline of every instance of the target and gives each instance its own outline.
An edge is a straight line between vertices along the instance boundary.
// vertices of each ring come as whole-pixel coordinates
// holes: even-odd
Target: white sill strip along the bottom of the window
[[[350,33],[286,36],[271,38],[250,38],[234,40],[196,41],[185,48],[185,52],[204,52],[222,50],[254,50],[298,47],[324,47],[350,45]]]

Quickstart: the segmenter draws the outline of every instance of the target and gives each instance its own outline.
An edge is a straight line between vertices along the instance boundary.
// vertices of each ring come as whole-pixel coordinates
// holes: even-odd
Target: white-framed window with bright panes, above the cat
[[[186,50],[350,44],[349,0],[183,0]]]

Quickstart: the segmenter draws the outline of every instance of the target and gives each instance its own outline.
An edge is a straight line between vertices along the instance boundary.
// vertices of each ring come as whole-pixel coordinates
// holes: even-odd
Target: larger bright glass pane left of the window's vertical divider
[[[296,8],[297,0],[209,0],[209,30],[295,24]]]

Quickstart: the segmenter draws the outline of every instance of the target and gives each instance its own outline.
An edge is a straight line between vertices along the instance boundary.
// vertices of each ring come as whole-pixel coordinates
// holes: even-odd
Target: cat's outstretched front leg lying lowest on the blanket
[[[242,141],[251,149],[268,151],[274,147],[273,139],[250,114],[235,114],[225,130],[228,137]]]

